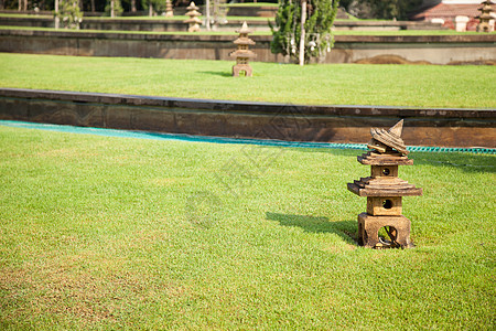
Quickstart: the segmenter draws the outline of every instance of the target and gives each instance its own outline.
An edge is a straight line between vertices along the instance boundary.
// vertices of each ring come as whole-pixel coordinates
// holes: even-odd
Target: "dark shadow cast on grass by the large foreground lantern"
[[[282,226],[299,226],[309,233],[334,233],[351,245],[357,243],[356,221],[332,222],[327,217],[291,215],[280,213],[266,213],[267,220],[277,221]]]

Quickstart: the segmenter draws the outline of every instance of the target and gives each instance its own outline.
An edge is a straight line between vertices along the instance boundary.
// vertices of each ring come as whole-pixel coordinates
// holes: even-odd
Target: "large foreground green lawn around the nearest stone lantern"
[[[0,329],[494,330],[496,157],[412,153],[373,250],[358,153],[0,126]]]

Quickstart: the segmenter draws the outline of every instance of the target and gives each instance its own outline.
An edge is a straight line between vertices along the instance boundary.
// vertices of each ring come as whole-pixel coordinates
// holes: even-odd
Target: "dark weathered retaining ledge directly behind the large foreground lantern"
[[[405,118],[410,146],[496,148],[496,109],[304,106],[0,88],[0,119],[202,136],[363,143]]]

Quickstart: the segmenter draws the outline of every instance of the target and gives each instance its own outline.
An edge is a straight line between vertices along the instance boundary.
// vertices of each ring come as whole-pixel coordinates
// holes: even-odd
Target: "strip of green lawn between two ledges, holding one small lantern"
[[[284,65],[0,53],[0,86],[293,104],[495,108],[495,66]]]

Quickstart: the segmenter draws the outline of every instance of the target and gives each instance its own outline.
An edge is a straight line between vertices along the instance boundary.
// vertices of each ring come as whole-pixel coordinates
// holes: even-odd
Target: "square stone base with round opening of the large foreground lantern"
[[[358,242],[368,248],[412,248],[410,242],[410,220],[403,215],[371,216],[367,213],[358,215]],[[379,237],[379,229],[386,226],[389,239]]]

